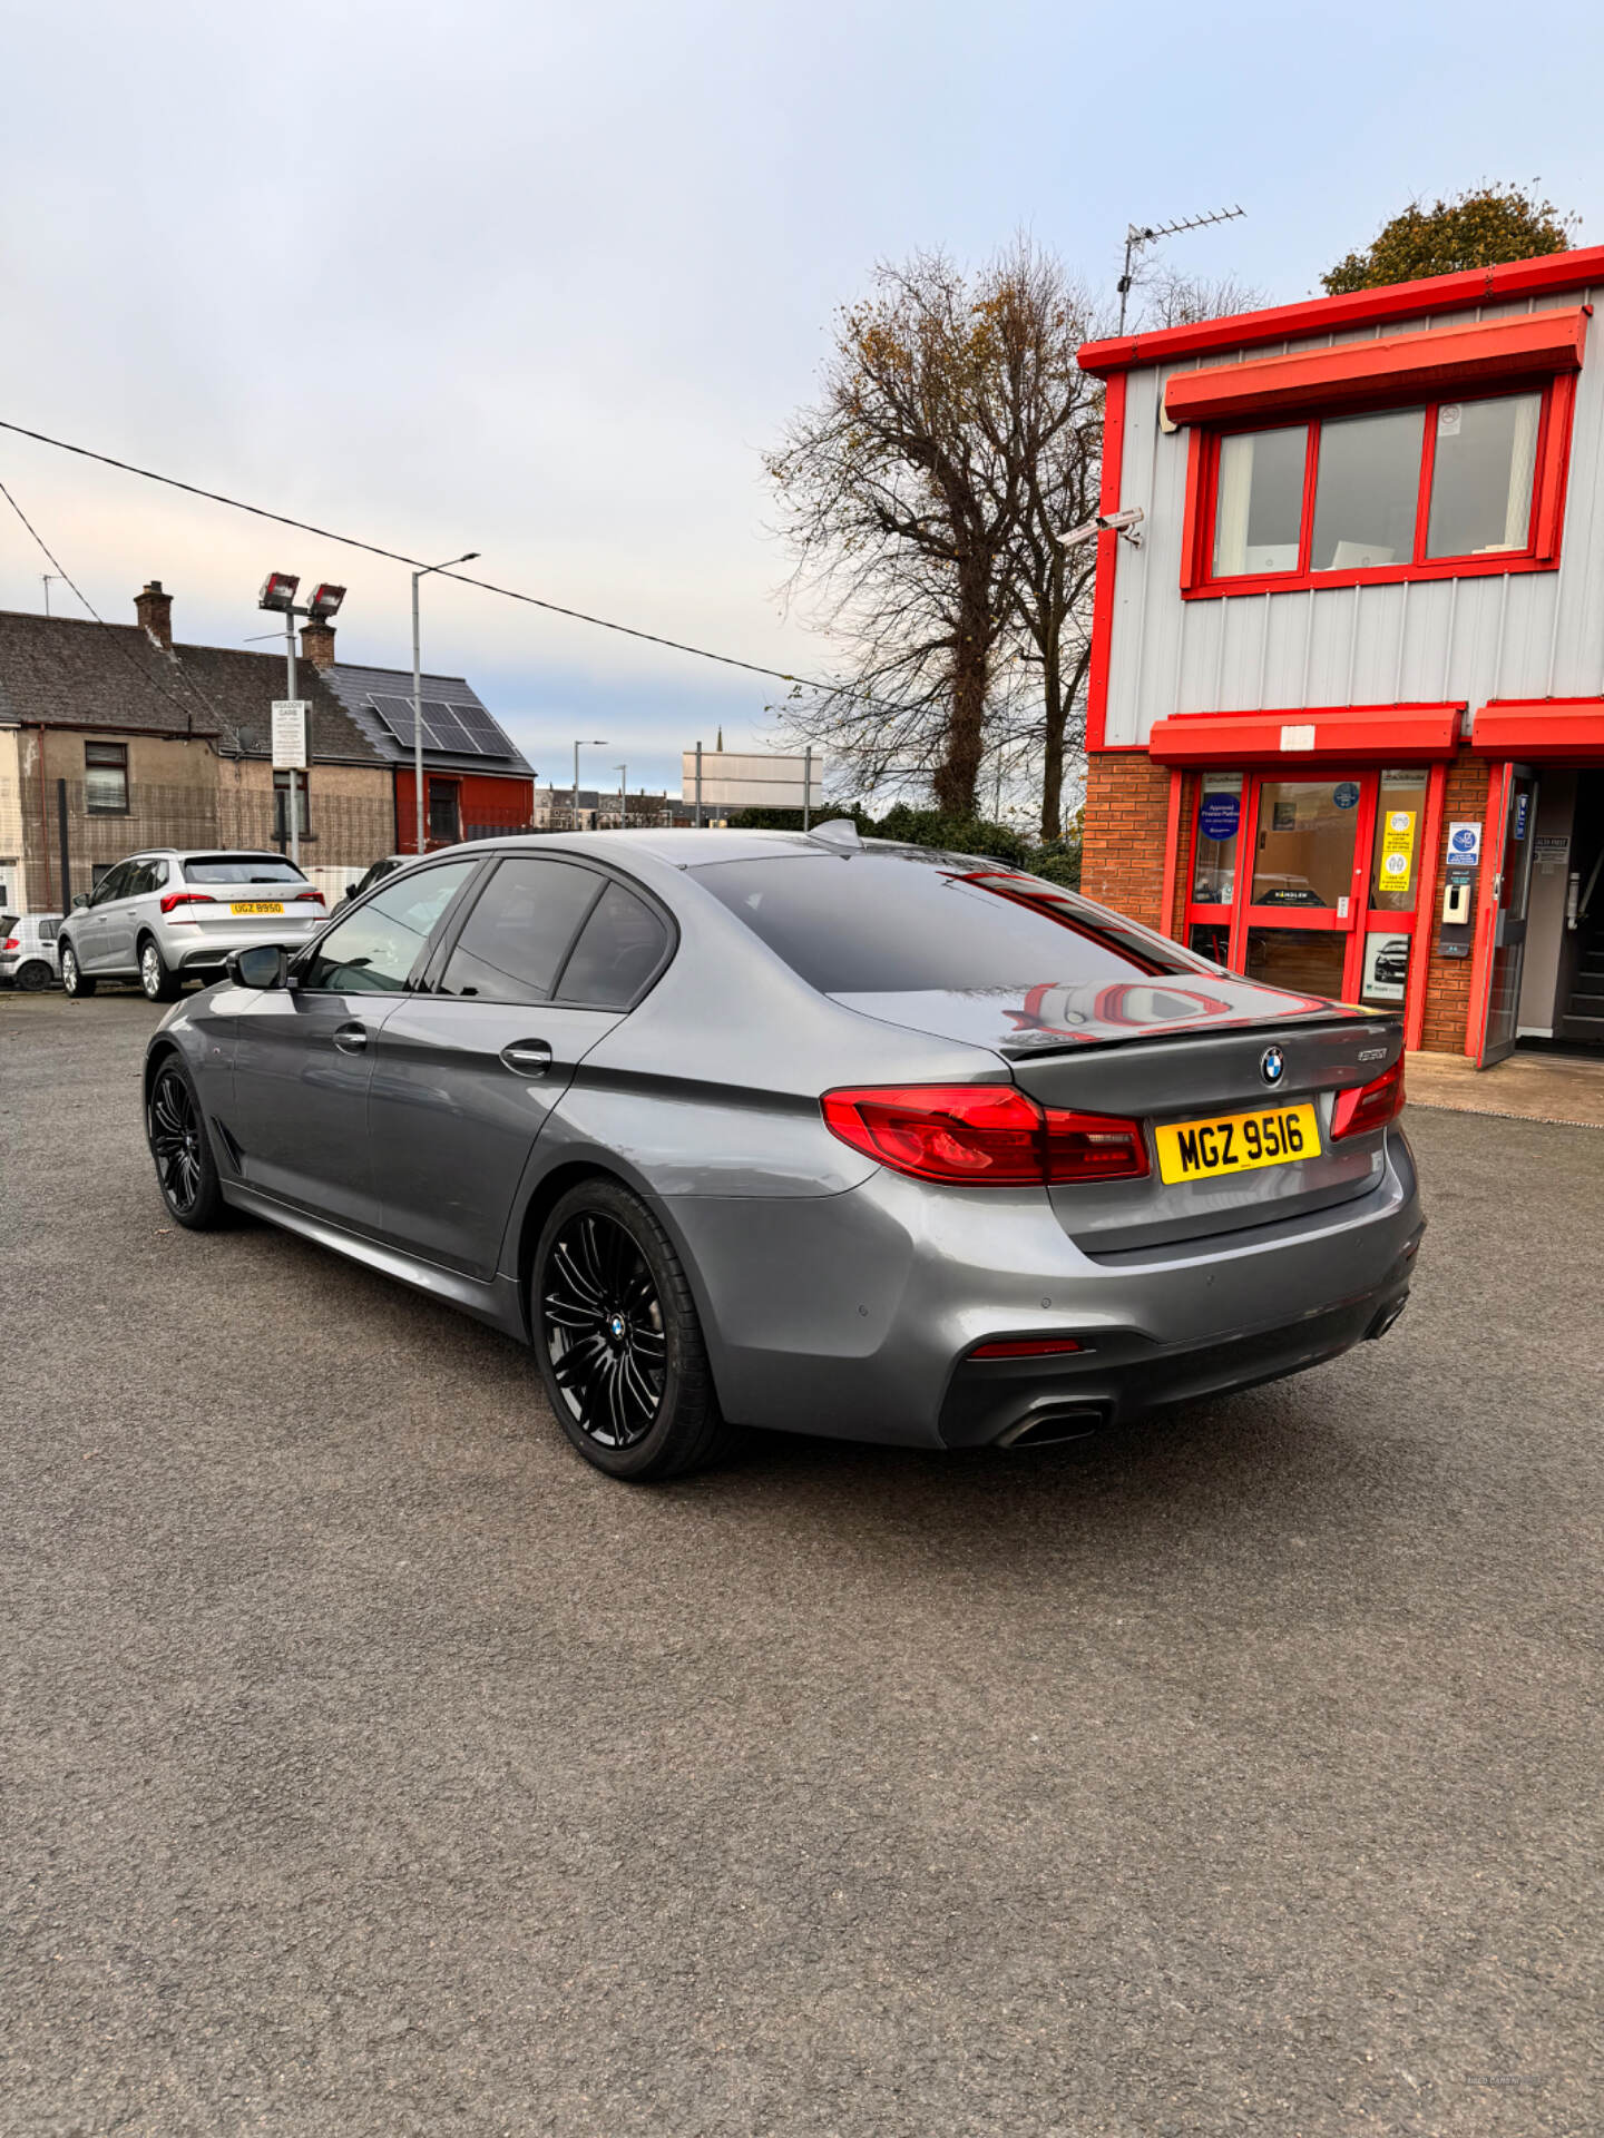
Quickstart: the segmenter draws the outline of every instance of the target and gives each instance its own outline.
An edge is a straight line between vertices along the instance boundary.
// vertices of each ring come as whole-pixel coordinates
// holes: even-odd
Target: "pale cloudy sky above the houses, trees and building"
[[[1538,17],[1531,17],[1536,24]],[[1598,9],[9,0],[0,415],[781,669],[761,451],[836,306],[915,246],[1029,229],[1112,282],[1125,224],[1307,295],[1414,192],[1542,180],[1604,242]],[[0,477],[103,616],[160,577],[182,639],[265,626],[267,569],[344,579],[404,667],[406,573],[0,434]],[[43,558],[0,500],[0,605]],[[53,607],[73,609],[66,588]],[[631,785],[746,742],[783,686],[434,584],[543,778]]]

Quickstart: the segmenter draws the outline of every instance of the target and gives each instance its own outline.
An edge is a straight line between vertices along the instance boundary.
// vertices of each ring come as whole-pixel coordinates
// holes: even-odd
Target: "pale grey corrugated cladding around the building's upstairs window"
[[[1388,331],[1476,325],[1591,291],[1397,321]],[[1328,334],[1245,348],[1243,359],[1371,340]],[[1589,342],[1600,336],[1593,321]],[[1230,361],[1210,355],[1208,363]],[[1159,430],[1168,370],[1131,370],[1125,393],[1121,507],[1144,511],[1144,543],[1119,547],[1106,742],[1146,742],[1172,712],[1279,706],[1390,706],[1491,697],[1593,697],[1604,691],[1604,344],[1576,378],[1570,481],[1557,571],[1407,579],[1283,594],[1181,599],[1187,430]]]

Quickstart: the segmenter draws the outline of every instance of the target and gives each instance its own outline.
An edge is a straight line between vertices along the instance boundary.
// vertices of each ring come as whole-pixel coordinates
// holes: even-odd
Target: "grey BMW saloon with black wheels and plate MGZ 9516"
[[[1384,1334],[1401,1043],[975,855],[601,832],[242,951],[154,1035],[145,1120],[178,1223],[520,1336],[646,1479],[742,1426],[1074,1439]]]

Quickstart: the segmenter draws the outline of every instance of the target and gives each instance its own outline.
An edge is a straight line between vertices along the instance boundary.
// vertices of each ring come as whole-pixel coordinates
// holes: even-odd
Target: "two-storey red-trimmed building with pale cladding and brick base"
[[[1486,1067],[1604,1052],[1604,248],[1093,342],[1084,887]],[[1133,539],[1136,537],[1136,539]]]

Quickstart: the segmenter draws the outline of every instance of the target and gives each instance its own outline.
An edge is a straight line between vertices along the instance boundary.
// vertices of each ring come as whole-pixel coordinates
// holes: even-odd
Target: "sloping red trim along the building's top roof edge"
[[[1296,342],[1311,334],[1345,334],[1354,327],[1377,327],[1388,319],[1463,312],[1478,304],[1508,304],[1514,297],[1587,289],[1593,282],[1604,284],[1604,246],[1578,246],[1574,252],[1546,252],[1536,261],[1469,267],[1463,274],[1426,276],[1420,282],[1358,289],[1345,297],[1305,297],[1300,304],[1277,304],[1266,312],[1234,312],[1225,319],[1200,319],[1189,327],[1159,327],[1155,334],[1125,334],[1106,342],[1086,342],[1080,351],[1080,368],[1108,376],[1108,372],[1125,372],[1136,363],[1176,363],[1223,348]]]

